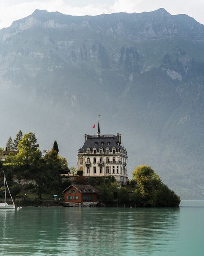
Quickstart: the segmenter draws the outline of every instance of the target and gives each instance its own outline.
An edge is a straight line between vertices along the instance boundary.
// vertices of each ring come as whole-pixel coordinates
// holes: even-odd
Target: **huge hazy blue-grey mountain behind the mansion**
[[[164,9],[36,10],[0,30],[0,145],[22,129],[76,166],[84,133],[122,134],[128,169],[151,165],[182,198],[204,192],[204,26]]]

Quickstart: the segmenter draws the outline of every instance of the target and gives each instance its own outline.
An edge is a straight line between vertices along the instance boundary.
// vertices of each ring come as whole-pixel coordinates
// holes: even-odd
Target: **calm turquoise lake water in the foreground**
[[[179,208],[0,210],[0,256],[203,256],[204,201]]]

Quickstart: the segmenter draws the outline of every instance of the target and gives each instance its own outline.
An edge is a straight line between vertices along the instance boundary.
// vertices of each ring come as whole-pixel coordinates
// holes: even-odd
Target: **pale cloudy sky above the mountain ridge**
[[[0,0],[0,29],[36,9],[71,15],[144,11],[165,8],[171,14],[185,13],[204,24],[204,0]]]

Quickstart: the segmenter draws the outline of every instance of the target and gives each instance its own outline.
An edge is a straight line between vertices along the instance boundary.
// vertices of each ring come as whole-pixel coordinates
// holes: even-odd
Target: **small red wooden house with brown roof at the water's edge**
[[[95,206],[99,191],[91,185],[71,185],[65,189],[64,200],[68,206]]]

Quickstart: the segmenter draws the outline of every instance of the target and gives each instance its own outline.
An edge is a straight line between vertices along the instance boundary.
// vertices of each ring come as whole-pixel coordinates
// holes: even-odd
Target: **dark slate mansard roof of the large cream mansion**
[[[117,136],[113,134],[100,135],[99,137],[97,137],[97,135],[88,135],[87,141],[85,141],[83,147],[79,149],[79,153],[86,152],[87,148],[90,148],[91,151],[93,151],[93,148],[96,148],[97,152],[102,148],[105,151],[107,147],[110,151],[112,151],[113,147],[116,151],[124,149],[124,147],[119,144]]]

